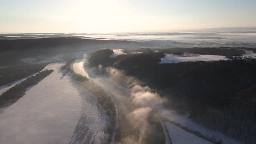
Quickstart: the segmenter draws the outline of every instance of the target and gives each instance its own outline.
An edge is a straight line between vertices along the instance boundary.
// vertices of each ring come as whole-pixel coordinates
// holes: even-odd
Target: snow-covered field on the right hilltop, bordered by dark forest
[[[228,60],[225,56],[214,55],[189,55],[189,56],[177,56],[174,54],[164,54],[164,58],[159,63],[178,63],[178,62],[196,62],[196,61],[218,61]]]

